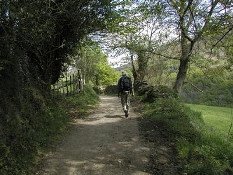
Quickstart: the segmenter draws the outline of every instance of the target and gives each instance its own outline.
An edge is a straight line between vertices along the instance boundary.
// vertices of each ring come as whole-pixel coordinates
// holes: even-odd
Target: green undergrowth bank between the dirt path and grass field
[[[144,104],[144,118],[175,143],[180,173],[233,174],[233,144],[205,125],[201,113],[174,98]]]

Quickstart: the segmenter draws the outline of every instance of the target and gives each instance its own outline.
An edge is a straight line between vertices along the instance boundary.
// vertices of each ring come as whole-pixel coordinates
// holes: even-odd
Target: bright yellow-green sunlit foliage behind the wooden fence
[[[84,40],[71,59],[74,62],[73,66],[82,70],[86,83],[101,87],[117,82],[119,73],[108,64],[106,54],[97,43]]]

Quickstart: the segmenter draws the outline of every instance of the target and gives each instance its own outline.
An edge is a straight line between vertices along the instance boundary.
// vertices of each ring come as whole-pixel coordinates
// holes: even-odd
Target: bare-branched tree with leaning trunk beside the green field
[[[196,43],[206,35],[207,30],[214,30],[211,28],[211,22],[215,21],[218,26],[229,26],[227,21],[232,9],[231,4],[231,1],[220,0],[145,0],[141,3],[143,9],[150,12],[150,18],[161,16],[163,26],[172,28],[179,36],[180,64],[174,85],[177,92],[180,92],[183,86]]]

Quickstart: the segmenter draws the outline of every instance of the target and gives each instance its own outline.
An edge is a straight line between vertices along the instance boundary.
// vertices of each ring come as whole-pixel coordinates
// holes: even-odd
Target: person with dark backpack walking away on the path
[[[121,104],[126,118],[129,115],[130,94],[134,95],[132,81],[123,71],[121,78],[118,80],[118,97],[121,97]]]

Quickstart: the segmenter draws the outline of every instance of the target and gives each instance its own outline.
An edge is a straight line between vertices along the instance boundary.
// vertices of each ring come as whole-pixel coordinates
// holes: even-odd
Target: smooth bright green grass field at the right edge
[[[205,123],[215,131],[228,134],[233,123],[233,108],[187,104],[191,109],[201,112]],[[231,133],[233,128],[231,129]]]

